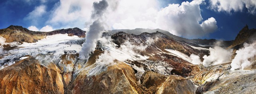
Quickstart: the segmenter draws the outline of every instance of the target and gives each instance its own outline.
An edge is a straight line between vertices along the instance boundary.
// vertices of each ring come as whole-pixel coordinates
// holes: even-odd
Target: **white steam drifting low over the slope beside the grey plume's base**
[[[106,38],[100,38],[100,43],[106,43]],[[103,45],[106,46],[106,45]],[[108,46],[106,46],[108,47]],[[118,61],[125,61],[129,59],[131,56],[136,56],[141,51],[145,51],[146,47],[144,45],[133,45],[129,41],[124,42],[122,45],[120,45],[120,48],[116,49],[106,49],[104,53],[99,55],[99,58],[96,59],[96,63],[94,69],[88,72],[88,76],[92,76],[95,74],[98,74],[102,71],[105,71],[108,66],[115,65],[115,60]],[[125,54],[120,54],[125,53]]]

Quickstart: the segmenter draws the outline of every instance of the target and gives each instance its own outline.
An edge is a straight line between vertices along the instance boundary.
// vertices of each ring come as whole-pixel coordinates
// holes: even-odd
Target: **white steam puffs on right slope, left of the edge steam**
[[[190,58],[192,59],[192,64],[203,64],[205,67],[207,67],[210,65],[218,65],[231,61],[233,49],[223,49],[219,46],[220,44],[221,42],[217,42],[215,43],[216,46],[214,48],[209,48],[210,55],[204,55],[203,62],[200,61],[200,57],[198,57],[197,55],[190,55]]]

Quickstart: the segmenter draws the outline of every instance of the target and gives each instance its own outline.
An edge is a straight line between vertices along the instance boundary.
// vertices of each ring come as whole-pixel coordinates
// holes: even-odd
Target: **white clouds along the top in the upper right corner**
[[[242,12],[244,8],[251,14],[256,12],[255,0],[210,0],[209,2],[209,8],[218,12]]]

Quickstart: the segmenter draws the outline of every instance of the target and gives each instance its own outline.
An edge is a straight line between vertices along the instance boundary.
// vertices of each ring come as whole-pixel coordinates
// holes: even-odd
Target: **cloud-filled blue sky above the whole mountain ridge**
[[[0,28],[21,25],[37,31],[73,27],[87,30],[94,1],[2,0]],[[254,0],[231,0],[230,5],[225,5],[230,0],[214,1],[117,0],[117,7],[111,1],[103,21],[105,29],[160,28],[190,39],[232,40],[246,24],[256,28]]]

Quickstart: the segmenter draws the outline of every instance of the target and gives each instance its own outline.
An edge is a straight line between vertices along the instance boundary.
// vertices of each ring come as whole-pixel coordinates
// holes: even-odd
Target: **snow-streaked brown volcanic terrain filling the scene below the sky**
[[[6,31],[9,36],[22,35],[10,28]],[[40,33],[42,38],[33,41],[5,37],[6,43],[36,43],[11,43],[13,48],[0,54],[4,66],[0,70],[0,94],[253,94],[256,89],[255,64],[251,69],[235,71],[230,70],[231,62],[194,65],[189,56],[198,55],[202,61],[204,55],[209,55],[207,47],[160,32],[104,32],[94,53],[83,60],[78,57],[84,38],[76,32],[68,34],[69,30]],[[37,32],[24,28],[14,31],[38,37]],[[47,43],[51,39],[46,36],[57,33],[67,33],[61,36],[71,38]],[[246,40],[234,41],[232,46],[238,47]]]

